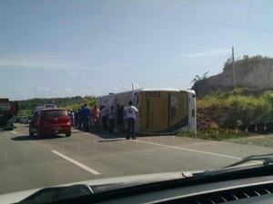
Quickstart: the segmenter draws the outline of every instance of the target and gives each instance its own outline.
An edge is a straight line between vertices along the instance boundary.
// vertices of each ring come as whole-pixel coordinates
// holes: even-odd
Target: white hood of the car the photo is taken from
[[[125,176],[125,177],[116,177],[109,179],[97,179],[97,180],[84,180],[73,183],[66,183],[62,185],[56,185],[53,187],[69,187],[74,185],[86,185],[93,189],[94,193],[102,192],[109,189],[118,189],[129,186],[135,186],[138,184],[145,184],[156,181],[164,180],[176,180],[191,177],[192,174],[203,171],[177,171],[177,172],[167,172],[167,173],[153,173],[153,174],[144,174],[144,175],[134,175],[134,176]],[[50,187],[50,188],[53,188]],[[45,187],[46,188],[46,187]],[[35,194],[40,189],[27,189],[23,191],[18,191],[14,193],[8,193],[0,195],[0,204],[15,203],[20,202],[23,199]]]

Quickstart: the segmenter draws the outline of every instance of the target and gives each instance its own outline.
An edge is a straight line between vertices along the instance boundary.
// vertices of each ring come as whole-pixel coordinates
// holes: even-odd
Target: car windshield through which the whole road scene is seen
[[[272,7],[0,1],[0,196],[271,157]]]

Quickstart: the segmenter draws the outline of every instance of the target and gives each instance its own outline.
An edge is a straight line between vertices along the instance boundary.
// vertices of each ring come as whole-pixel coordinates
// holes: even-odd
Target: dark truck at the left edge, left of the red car
[[[14,129],[14,119],[17,112],[17,102],[11,102],[7,98],[0,98],[0,130],[12,131]]]

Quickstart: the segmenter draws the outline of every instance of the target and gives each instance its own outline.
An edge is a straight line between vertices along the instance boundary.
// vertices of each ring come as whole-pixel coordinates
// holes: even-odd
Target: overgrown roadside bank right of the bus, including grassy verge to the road
[[[197,133],[181,136],[273,147],[273,91],[210,92],[197,98]],[[262,135],[262,136],[261,136]]]

